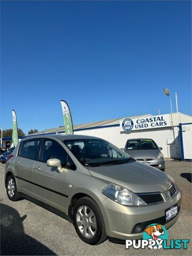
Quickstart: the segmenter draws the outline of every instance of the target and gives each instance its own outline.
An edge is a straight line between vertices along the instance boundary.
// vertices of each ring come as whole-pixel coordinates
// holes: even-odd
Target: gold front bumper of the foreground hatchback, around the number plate
[[[134,226],[142,222],[152,221],[151,223],[154,223],[153,220],[156,219],[166,229],[170,228],[177,221],[180,211],[173,219],[165,223],[162,220],[165,217],[165,210],[176,204],[180,209],[181,191],[179,188],[177,188],[175,196],[169,201],[147,206],[124,206],[107,198],[102,202],[107,236],[122,240],[141,239],[143,230],[140,233],[133,233]]]

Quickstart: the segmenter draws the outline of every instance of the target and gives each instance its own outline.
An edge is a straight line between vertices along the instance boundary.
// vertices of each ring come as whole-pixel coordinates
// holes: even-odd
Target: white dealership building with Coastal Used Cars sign
[[[33,135],[38,134],[65,134],[65,127]],[[192,159],[192,116],[183,113],[157,116],[148,114],[74,125],[74,134],[99,137],[118,148],[124,148],[128,139],[153,139],[163,148],[164,157]],[[7,141],[12,143],[12,138],[3,138],[3,146],[6,146]]]

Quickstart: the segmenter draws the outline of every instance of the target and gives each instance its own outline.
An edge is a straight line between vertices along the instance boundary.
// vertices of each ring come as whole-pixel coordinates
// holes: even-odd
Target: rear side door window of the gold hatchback
[[[37,150],[39,146],[39,139],[34,140],[25,140],[20,143],[18,156],[30,158],[30,159],[36,159]]]

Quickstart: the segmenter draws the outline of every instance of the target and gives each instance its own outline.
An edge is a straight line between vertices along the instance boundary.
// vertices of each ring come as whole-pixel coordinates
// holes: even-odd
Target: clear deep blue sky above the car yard
[[[190,1],[1,1],[1,125],[191,114]]]

